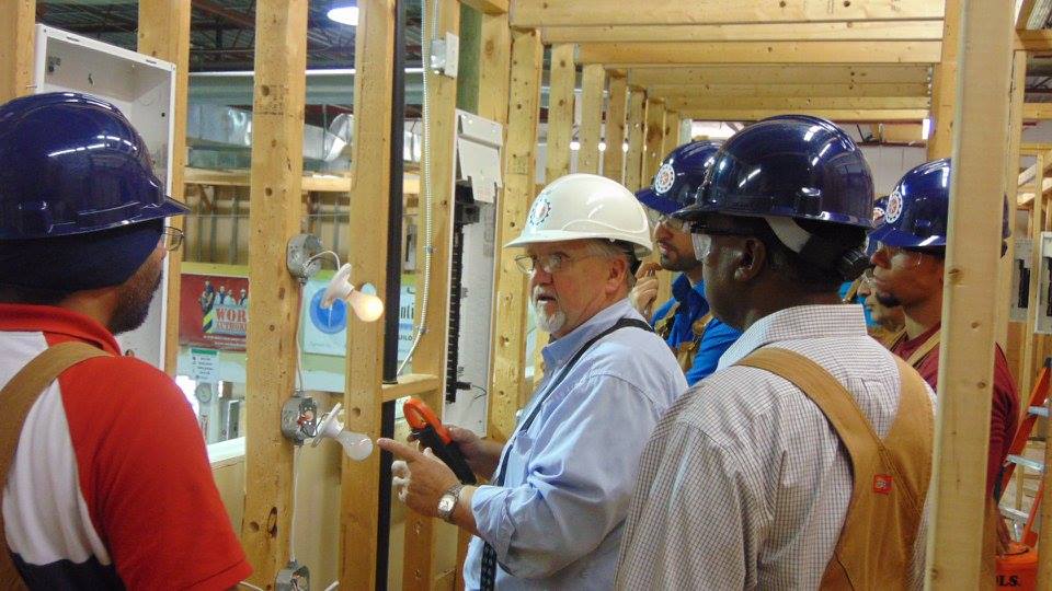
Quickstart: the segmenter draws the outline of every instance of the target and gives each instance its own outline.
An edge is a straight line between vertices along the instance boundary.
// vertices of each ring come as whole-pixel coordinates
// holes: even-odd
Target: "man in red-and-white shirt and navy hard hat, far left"
[[[182,241],[164,218],[186,211],[115,106],[78,93],[0,105],[0,413],[15,391],[33,401],[0,474],[3,588],[228,589],[252,570],[186,398],[114,339],[146,320]],[[18,385],[70,341],[103,355],[41,392]]]

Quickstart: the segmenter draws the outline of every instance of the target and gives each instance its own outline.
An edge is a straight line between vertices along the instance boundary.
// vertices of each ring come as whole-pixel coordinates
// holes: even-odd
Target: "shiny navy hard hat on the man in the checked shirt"
[[[697,220],[706,213],[872,228],[873,178],[843,129],[819,117],[779,115],[727,140],[695,204],[676,217]]]

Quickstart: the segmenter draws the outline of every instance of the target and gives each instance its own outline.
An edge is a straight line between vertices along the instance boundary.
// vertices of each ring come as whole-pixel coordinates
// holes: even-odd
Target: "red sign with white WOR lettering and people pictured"
[[[249,328],[245,277],[182,274],[179,344],[243,351]]]

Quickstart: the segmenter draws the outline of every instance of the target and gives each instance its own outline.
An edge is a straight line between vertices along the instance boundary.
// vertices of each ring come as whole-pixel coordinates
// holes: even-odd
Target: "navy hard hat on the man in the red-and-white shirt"
[[[99,232],[187,212],[114,105],[73,92],[0,105],[0,241]]]

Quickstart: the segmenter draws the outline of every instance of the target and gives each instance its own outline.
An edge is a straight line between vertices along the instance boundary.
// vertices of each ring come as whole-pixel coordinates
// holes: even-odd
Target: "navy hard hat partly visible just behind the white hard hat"
[[[716,141],[691,141],[676,148],[662,161],[651,185],[636,192],[636,197],[666,216],[687,207],[694,202],[719,149]]]

